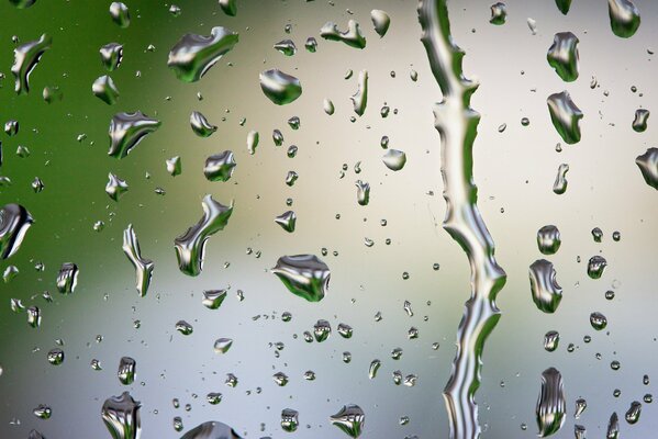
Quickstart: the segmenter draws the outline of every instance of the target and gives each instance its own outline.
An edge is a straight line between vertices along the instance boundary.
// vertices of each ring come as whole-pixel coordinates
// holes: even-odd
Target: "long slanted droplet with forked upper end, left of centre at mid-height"
[[[188,275],[198,275],[203,269],[203,255],[208,238],[222,230],[233,213],[230,206],[218,203],[210,194],[201,202],[203,217],[174,240],[178,268]]]

